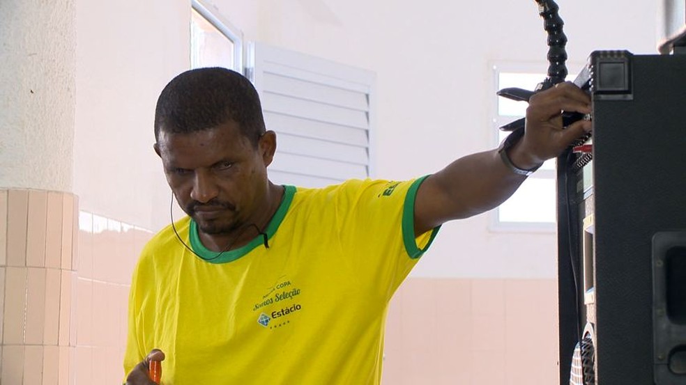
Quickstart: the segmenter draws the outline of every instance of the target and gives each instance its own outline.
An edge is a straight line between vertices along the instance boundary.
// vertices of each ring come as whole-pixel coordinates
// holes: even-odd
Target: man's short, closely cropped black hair
[[[257,148],[265,132],[257,90],[227,68],[197,68],[174,77],[155,108],[155,141],[160,131],[189,134],[234,121]]]

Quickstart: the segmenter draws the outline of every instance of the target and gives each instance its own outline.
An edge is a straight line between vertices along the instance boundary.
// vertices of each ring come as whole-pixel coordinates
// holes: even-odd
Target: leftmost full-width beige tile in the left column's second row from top
[[[3,345],[24,343],[24,311],[26,311],[26,267],[6,267],[5,314]]]

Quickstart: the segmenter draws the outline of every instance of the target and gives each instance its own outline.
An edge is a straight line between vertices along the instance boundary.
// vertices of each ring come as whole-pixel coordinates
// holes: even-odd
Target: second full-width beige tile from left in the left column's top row
[[[29,191],[29,218],[26,225],[26,266],[45,267],[45,222],[47,191]]]

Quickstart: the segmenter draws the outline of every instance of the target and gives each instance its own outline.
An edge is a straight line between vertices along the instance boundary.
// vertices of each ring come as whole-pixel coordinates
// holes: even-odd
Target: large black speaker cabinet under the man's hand
[[[686,54],[593,52],[575,83],[593,136],[558,158],[560,384],[686,384]]]

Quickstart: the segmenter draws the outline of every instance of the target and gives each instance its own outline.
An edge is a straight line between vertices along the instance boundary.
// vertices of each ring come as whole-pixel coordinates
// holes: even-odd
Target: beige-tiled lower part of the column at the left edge
[[[73,384],[77,198],[0,189],[0,378]]]

